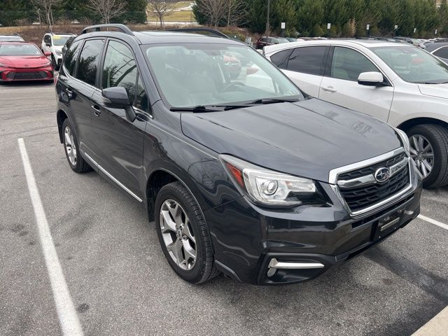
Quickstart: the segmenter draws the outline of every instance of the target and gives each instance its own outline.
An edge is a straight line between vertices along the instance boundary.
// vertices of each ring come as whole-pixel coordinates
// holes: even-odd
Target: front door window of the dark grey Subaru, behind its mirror
[[[134,54],[123,43],[110,41],[104,58],[102,88],[125,87],[131,102],[148,111],[148,97],[139,77]]]

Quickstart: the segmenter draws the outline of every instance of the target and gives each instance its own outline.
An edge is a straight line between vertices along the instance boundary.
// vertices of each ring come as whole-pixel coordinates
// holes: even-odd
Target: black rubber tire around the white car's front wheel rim
[[[430,174],[423,179],[423,187],[439,188],[448,184],[448,130],[440,125],[423,124],[410,128],[407,136],[421,135],[433,147],[434,163]]]

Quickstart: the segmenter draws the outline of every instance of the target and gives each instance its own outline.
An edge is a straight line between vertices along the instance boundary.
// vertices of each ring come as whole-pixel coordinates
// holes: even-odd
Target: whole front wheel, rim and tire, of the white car
[[[407,131],[411,158],[423,177],[425,188],[448,184],[448,130],[440,125],[423,124]]]

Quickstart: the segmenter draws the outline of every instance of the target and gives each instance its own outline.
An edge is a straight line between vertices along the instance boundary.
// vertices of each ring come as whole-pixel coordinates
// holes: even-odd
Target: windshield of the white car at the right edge
[[[419,48],[372,48],[395,73],[409,83],[440,84],[448,82],[448,65]]]

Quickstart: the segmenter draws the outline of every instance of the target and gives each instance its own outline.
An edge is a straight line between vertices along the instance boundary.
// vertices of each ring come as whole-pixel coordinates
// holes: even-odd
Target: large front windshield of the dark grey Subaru
[[[245,45],[190,43],[143,48],[160,93],[171,106],[304,99],[279,69]]]

